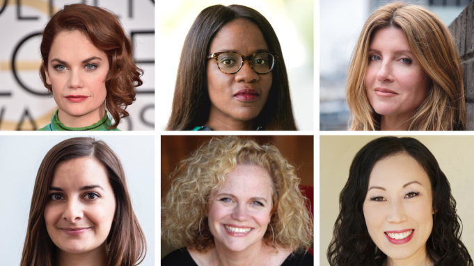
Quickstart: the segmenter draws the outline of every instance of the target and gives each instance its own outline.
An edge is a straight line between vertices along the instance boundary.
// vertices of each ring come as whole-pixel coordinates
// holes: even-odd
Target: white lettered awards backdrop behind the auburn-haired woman
[[[42,84],[42,30],[63,6],[85,3],[115,13],[134,43],[143,85],[120,130],[155,129],[154,0],[0,0],[0,130],[35,130],[49,124],[56,102]]]

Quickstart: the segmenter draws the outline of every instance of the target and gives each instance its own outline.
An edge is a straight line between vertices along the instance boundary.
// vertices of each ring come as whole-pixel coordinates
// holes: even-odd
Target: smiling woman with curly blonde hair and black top
[[[295,169],[276,147],[213,138],[170,176],[161,265],[313,265],[313,222]]]

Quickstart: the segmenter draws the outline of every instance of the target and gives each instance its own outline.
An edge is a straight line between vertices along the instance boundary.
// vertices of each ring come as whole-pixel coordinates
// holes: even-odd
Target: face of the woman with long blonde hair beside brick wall
[[[379,115],[409,119],[425,99],[429,77],[411,52],[400,28],[372,34],[365,90]]]

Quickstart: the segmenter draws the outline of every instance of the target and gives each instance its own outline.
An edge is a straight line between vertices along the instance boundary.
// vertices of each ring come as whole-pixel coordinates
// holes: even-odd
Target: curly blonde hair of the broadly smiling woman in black
[[[313,221],[300,178],[276,147],[235,136],[212,138],[171,174],[171,188],[161,200],[161,239],[174,247],[204,252],[214,247],[207,222],[212,192],[223,185],[226,174],[238,165],[267,169],[273,185],[270,226],[263,240],[271,247],[303,251],[313,244]],[[274,232],[272,232],[273,228]]]

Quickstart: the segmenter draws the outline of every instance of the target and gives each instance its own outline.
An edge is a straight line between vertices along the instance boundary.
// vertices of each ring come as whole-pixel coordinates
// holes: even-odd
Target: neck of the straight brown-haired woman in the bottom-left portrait
[[[58,249],[58,266],[106,266],[105,243],[85,253],[68,253]]]

